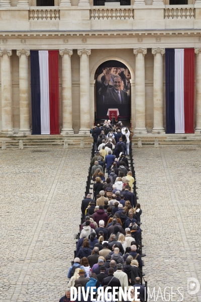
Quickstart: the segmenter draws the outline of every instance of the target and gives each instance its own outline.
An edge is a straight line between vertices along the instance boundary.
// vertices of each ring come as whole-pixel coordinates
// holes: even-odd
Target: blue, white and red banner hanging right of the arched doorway
[[[166,133],[194,133],[194,48],[165,49]]]

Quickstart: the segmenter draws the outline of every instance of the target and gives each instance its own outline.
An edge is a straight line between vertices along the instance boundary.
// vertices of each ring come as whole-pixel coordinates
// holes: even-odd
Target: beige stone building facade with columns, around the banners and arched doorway
[[[183,2],[185,3],[185,1]],[[201,1],[1,0],[2,134],[31,134],[30,50],[59,50],[60,131],[93,125],[95,72],[108,60],[131,73],[131,122],[136,133],[165,131],[165,48],[195,49],[194,127],[201,131]]]

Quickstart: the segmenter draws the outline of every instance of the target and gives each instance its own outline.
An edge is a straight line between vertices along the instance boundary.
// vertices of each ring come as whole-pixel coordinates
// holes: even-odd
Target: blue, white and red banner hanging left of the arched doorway
[[[59,134],[58,52],[30,51],[32,134]]]

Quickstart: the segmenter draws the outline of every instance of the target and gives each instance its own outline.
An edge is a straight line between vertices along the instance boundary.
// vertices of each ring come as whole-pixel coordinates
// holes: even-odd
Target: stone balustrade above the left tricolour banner
[[[57,7],[30,7],[29,20],[60,20],[59,8]]]

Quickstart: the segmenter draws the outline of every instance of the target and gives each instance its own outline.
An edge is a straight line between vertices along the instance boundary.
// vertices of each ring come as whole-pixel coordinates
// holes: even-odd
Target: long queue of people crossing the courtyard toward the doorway
[[[103,287],[104,292],[107,286],[112,289],[116,286],[132,287],[133,297],[138,286],[140,301],[144,302],[147,297],[145,287],[141,284],[144,266],[140,254],[142,209],[133,193],[135,180],[129,167],[129,146],[127,149],[122,138],[123,125],[120,124],[122,128],[117,130],[119,135],[113,131],[105,132],[108,126],[111,126],[110,120],[105,121],[103,128],[97,125],[93,129],[96,149],[91,159],[93,196],[87,194],[81,202],[83,223],[75,258],[67,273],[68,288],[60,302],[71,302],[71,286],[77,289],[84,287],[85,291],[89,288],[89,294],[92,290],[97,293],[99,287]],[[124,144],[124,152],[119,152],[118,143]],[[105,153],[98,150],[99,146]],[[119,154],[114,155],[116,149]],[[112,289],[108,292],[112,292]],[[76,301],[84,301],[82,294],[80,298],[77,296]],[[104,295],[104,298],[104,301],[113,301],[114,297],[111,300]]]

